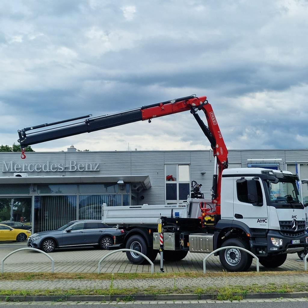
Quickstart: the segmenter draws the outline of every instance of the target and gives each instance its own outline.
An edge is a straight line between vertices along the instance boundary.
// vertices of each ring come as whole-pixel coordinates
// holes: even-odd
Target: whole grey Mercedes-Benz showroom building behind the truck
[[[181,204],[191,181],[210,197],[213,151],[0,152],[0,220],[57,229],[100,219],[101,205]],[[229,168],[268,167],[308,178],[308,149],[229,150]],[[286,193],[286,188],[280,188]]]

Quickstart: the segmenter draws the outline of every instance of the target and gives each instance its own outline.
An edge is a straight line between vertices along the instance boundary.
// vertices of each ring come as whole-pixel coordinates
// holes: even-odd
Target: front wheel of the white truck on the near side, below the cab
[[[221,247],[237,246],[249,250],[247,242],[240,238],[230,238],[226,240]],[[221,265],[230,272],[244,272],[249,269],[252,263],[252,256],[240,249],[225,249],[219,252]]]

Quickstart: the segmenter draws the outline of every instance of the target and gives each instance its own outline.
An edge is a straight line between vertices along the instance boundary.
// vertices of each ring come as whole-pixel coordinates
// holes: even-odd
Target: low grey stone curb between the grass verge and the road
[[[129,295],[38,295],[38,296],[22,296],[0,295],[2,302],[115,302],[133,299],[133,301],[181,301],[181,300],[215,300],[218,294],[131,294]],[[242,294],[232,294],[242,295]],[[243,299],[260,299],[260,298],[308,298],[308,292],[293,293],[257,293],[242,295]],[[130,300],[131,302],[132,300]]]

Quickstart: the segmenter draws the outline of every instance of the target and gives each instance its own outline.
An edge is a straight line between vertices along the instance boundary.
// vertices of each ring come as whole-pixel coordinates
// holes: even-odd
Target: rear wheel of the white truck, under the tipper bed
[[[147,256],[148,247],[143,237],[140,235],[131,236],[126,242],[125,248],[139,251]],[[132,251],[127,251],[126,256],[132,264],[146,264],[148,260]],[[150,258],[151,259],[151,258]]]

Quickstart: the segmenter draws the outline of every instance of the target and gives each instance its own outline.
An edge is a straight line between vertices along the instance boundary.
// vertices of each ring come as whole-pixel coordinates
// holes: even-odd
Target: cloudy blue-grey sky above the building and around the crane
[[[307,16],[305,0],[2,0],[0,144],[20,128],[197,94],[229,149],[307,148]],[[71,144],[209,148],[189,112],[32,148]]]

